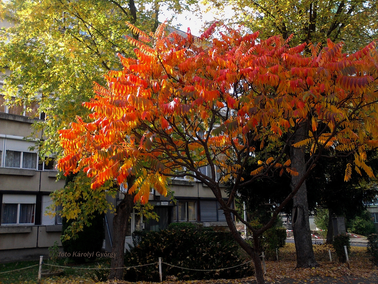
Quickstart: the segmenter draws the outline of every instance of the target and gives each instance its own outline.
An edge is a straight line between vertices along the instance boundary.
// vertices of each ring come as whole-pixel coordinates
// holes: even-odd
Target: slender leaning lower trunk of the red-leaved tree
[[[236,242],[239,243],[240,247],[242,247],[242,249],[245,250],[245,252],[248,253],[249,256],[253,260],[257,284],[264,284],[265,283],[264,272],[261,267],[261,261],[260,261],[260,255],[259,255],[259,236],[253,236],[254,247],[251,247],[248,243],[246,243],[245,240],[243,240],[242,236],[237,231],[231,213],[225,210],[224,214],[226,217],[228,228],[230,229],[232,236],[234,237]]]

